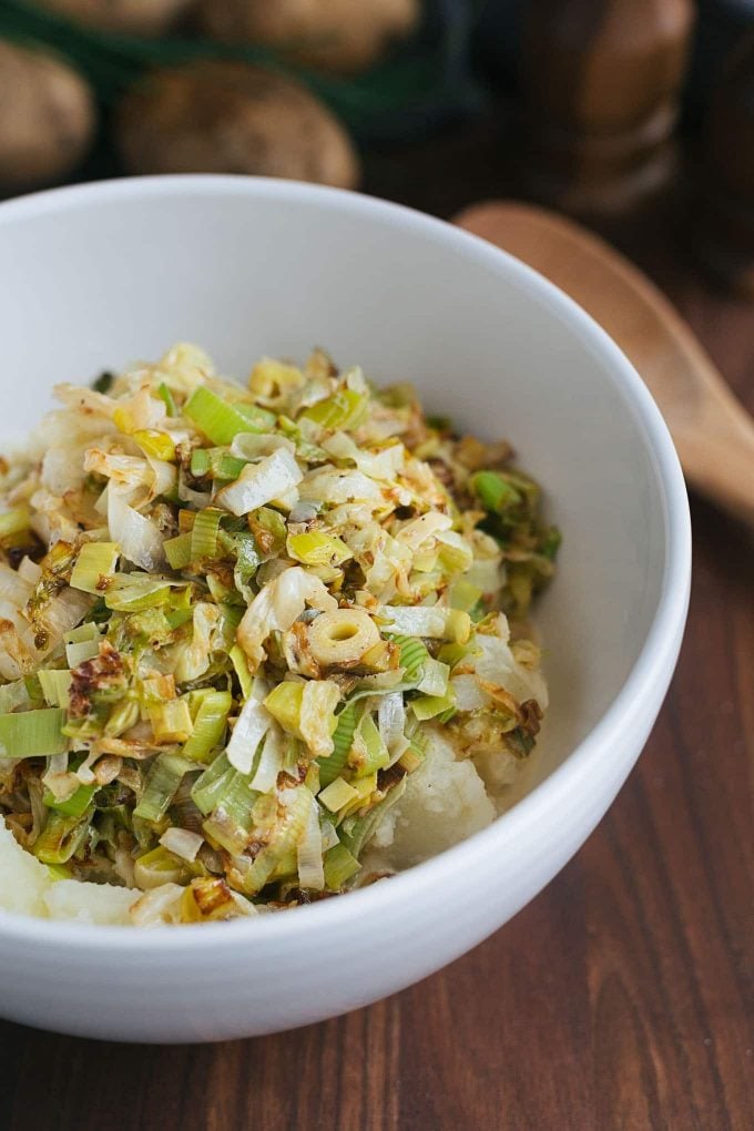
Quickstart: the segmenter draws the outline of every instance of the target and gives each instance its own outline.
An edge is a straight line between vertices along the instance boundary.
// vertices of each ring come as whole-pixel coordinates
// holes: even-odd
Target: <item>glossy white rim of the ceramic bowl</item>
[[[604,750],[625,727],[645,714],[645,702],[652,701],[652,690],[665,688],[675,665],[686,620],[691,587],[691,519],[688,499],[670,433],[647,386],[613,339],[548,279],[514,256],[445,221],[404,205],[376,197],[297,181],[243,175],[172,174],[163,176],[121,178],[86,184],[69,185],[29,193],[0,204],[0,230],[5,225],[92,204],[130,202],[145,198],[179,196],[244,197],[269,201],[314,204],[321,208],[347,210],[357,218],[379,219],[404,231],[428,238],[449,251],[476,260],[480,266],[512,277],[540,305],[567,322],[584,348],[598,354],[609,379],[621,394],[629,411],[636,417],[647,446],[653,457],[657,485],[661,493],[665,519],[665,570],[651,627],[641,651],[623,687],[601,717],[573,748],[565,760],[526,794],[517,804],[497,817],[492,824],[447,848],[437,855],[398,873],[389,883],[376,883],[349,892],[345,899],[328,899],[296,908],[291,915],[260,915],[231,923],[208,923],[155,926],[138,930],[75,921],[44,920],[24,913],[0,909],[0,941],[18,943],[70,943],[81,956],[95,951],[127,950],[137,956],[146,952],[177,955],[197,948],[211,948],[217,953],[226,948],[257,942],[270,946],[317,929],[341,931],[367,913],[380,915],[391,905],[421,903],[436,884],[437,898],[444,899],[448,880],[474,874],[477,862],[488,856],[501,841],[514,843],[527,827],[537,826],[541,818],[558,808],[560,801],[577,785],[592,776]],[[600,814],[601,818],[601,814]],[[250,951],[253,953],[253,951]]]

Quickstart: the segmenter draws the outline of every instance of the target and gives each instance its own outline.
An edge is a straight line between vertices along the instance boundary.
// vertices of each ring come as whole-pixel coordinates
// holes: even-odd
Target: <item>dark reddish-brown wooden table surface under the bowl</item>
[[[505,190],[502,154],[494,126],[459,129],[372,157],[367,189],[450,216]],[[621,242],[754,411],[754,307],[709,290],[667,227]],[[512,923],[396,998],[279,1036],[154,1048],[0,1022],[0,1126],[751,1131],[754,538],[695,500],[692,518],[659,722],[597,831]]]

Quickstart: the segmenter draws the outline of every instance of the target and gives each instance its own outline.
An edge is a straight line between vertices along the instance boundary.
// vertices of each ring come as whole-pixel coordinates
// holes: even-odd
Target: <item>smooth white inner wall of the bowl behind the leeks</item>
[[[303,359],[321,344],[378,381],[414,381],[462,428],[510,439],[564,532],[537,614],[552,711],[536,782],[622,688],[666,566],[653,457],[604,351],[528,273],[466,236],[449,248],[414,214],[274,182],[188,183],[6,209],[2,440],[34,425],[55,382],[180,339],[240,378],[260,354]]]

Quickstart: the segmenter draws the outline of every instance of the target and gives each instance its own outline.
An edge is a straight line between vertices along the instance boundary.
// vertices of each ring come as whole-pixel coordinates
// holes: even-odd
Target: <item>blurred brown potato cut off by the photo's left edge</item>
[[[31,188],[68,173],[95,128],[86,81],[42,51],[0,41],[0,187]]]

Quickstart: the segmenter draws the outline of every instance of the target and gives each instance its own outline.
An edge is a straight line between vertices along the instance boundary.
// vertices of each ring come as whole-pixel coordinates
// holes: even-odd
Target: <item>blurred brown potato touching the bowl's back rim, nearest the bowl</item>
[[[132,173],[252,173],[353,188],[358,162],[343,127],[307,90],[242,62],[155,71],[118,115]]]

